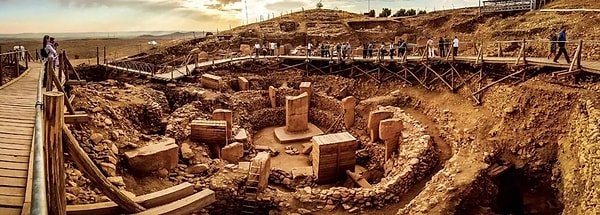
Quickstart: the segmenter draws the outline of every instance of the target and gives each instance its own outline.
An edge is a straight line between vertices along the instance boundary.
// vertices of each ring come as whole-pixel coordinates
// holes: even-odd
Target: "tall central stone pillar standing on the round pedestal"
[[[285,130],[299,132],[308,130],[308,94],[285,97]]]

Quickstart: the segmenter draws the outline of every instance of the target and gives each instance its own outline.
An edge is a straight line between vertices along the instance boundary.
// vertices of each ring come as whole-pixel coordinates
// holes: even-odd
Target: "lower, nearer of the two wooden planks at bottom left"
[[[216,201],[215,192],[204,189],[184,199],[136,213],[137,215],[187,215],[200,210]]]

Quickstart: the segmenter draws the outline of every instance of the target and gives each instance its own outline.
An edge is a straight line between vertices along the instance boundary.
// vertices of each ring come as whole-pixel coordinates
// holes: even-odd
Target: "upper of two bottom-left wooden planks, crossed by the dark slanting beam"
[[[152,208],[177,201],[186,196],[194,194],[194,185],[182,183],[164,190],[141,195],[134,200],[146,208]],[[67,205],[68,215],[110,215],[124,213],[114,202],[103,202],[85,205]]]

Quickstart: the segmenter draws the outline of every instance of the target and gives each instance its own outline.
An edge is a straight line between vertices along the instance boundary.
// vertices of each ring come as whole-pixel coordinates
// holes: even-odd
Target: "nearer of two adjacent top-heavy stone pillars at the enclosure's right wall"
[[[403,128],[401,119],[386,119],[379,122],[379,138],[385,143],[384,161],[390,159],[392,154],[398,151]]]

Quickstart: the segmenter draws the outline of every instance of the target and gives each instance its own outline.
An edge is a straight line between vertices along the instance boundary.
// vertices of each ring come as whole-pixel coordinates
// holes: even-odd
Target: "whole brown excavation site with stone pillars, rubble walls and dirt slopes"
[[[600,213],[600,17],[570,10],[600,4],[532,2],[307,9],[118,60],[62,56],[44,119],[61,98],[65,214]],[[564,26],[571,61],[555,63],[547,35]],[[428,37],[455,36],[457,53],[427,56]],[[363,57],[398,41],[403,56]]]

